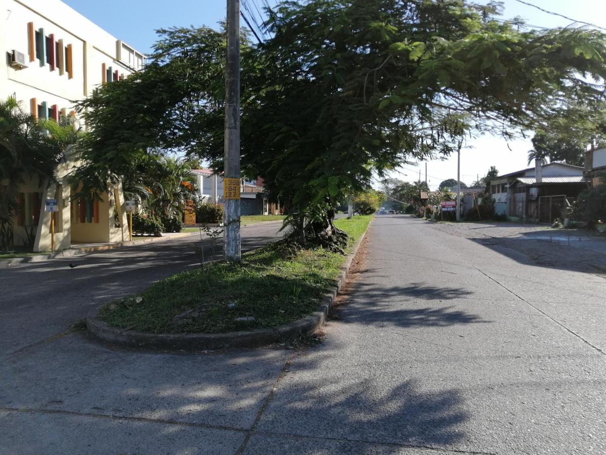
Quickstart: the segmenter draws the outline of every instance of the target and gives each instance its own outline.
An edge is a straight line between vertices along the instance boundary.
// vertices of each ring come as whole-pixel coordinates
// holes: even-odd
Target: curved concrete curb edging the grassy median
[[[374,220],[375,218],[373,218]],[[367,231],[361,235],[347,256],[345,264],[341,267],[341,273],[337,278],[336,286],[330,289],[320,299],[320,305],[310,315],[279,327],[269,329],[255,329],[251,331],[225,332],[225,333],[195,333],[195,334],[152,334],[149,332],[136,332],[128,329],[116,328],[108,325],[97,317],[98,309],[91,312],[86,318],[86,327],[90,334],[104,342],[115,345],[128,346],[131,348],[155,348],[155,349],[184,349],[197,351],[204,349],[225,348],[256,348],[281,340],[296,340],[301,335],[307,335],[321,328],[339,289],[345,283],[347,272],[351,267],[353,258],[358,253],[360,245],[373,222],[368,223]]]

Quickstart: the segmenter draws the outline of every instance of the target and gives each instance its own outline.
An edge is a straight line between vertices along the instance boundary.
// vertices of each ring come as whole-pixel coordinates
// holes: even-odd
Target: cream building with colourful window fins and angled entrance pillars
[[[144,55],[59,0],[0,0],[0,99],[14,96],[38,118],[76,116],[73,101],[96,87],[141,70]],[[84,126],[85,127],[85,126]],[[76,165],[66,153],[57,174],[62,183]],[[72,201],[72,188],[26,179],[19,188],[14,241],[50,249],[50,212],[44,201],[56,198],[55,248],[73,243],[128,240],[121,186],[102,200]],[[35,239],[33,236],[35,235]]]

